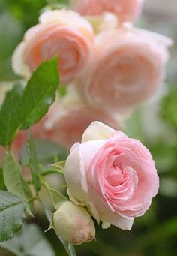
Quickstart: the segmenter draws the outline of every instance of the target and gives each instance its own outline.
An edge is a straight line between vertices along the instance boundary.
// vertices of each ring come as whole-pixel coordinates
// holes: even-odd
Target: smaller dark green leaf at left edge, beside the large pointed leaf
[[[23,97],[23,88],[14,86],[10,92],[7,92],[4,103],[0,110],[0,144],[8,145],[17,134],[20,126],[20,113],[18,108]]]

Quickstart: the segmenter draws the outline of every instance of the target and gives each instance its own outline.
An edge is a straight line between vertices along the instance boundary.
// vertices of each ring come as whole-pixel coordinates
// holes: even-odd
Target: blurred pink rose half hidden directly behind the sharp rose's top
[[[74,105],[66,110],[52,125],[52,140],[68,149],[78,141],[81,142],[83,132],[95,120],[118,128],[118,121],[104,110],[95,110],[87,105]]]

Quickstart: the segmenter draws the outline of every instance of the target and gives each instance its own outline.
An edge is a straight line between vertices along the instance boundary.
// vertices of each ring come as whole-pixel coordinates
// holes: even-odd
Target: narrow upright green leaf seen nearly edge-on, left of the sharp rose
[[[40,191],[41,184],[38,176],[39,166],[37,162],[37,154],[34,146],[34,141],[31,137],[31,133],[28,133],[28,156],[29,156],[29,167],[31,169],[32,182],[35,191]]]

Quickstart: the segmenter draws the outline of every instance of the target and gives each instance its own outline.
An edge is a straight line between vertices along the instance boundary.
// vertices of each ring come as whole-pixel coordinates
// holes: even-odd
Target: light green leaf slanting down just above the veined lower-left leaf
[[[5,154],[3,174],[7,191],[23,199],[31,199],[31,191],[23,179],[19,164],[10,151]]]

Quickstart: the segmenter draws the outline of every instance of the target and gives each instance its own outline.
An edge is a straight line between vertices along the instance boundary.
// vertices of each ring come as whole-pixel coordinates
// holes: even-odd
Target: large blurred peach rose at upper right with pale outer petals
[[[79,82],[89,104],[121,111],[154,95],[165,76],[169,38],[124,24],[102,32],[95,44],[90,75]]]

